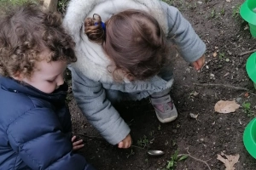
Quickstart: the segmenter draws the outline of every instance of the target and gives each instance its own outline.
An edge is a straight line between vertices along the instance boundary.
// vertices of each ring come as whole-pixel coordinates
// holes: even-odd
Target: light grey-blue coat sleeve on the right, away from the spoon
[[[161,4],[167,16],[168,37],[173,39],[183,59],[191,63],[201,58],[206,51],[206,44],[195,33],[189,21],[177,8],[164,2]]]

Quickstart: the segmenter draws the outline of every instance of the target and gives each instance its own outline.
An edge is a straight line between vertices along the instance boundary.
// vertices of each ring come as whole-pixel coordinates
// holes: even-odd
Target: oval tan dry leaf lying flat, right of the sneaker
[[[217,111],[218,113],[232,113],[236,111],[236,109],[238,109],[239,107],[240,105],[236,104],[235,100],[219,100],[214,106],[214,111]]]

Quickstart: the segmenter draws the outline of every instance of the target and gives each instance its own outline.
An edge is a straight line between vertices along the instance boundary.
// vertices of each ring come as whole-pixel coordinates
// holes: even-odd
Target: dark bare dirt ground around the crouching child
[[[178,154],[188,154],[189,151],[191,156],[206,161],[209,166],[189,157],[175,161],[177,165],[173,169],[176,170],[224,170],[224,163],[217,160],[217,154],[221,152],[240,155],[235,165],[237,170],[256,169],[256,161],[247,153],[242,142],[244,128],[255,112],[255,96],[247,96],[247,90],[242,89],[255,92],[245,70],[251,53],[242,53],[256,47],[247,23],[239,15],[243,0],[166,2],[181,10],[207,43],[207,65],[201,71],[195,71],[181,57],[175,59],[175,82],[171,95],[178,111],[177,120],[160,123],[148,99],[117,105],[118,111],[131,127],[133,138],[133,146],[121,150],[108,144],[86,122],[70,93],[68,99],[73,133],[84,139],[84,149],[79,152],[94,167],[102,170],[165,169],[176,151]],[[227,85],[237,88],[228,88]],[[219,114],[214,112],[214,105],[221,99],[235,99],[240,105],[247,103],[251,106],[241,106],[234,113]],[[198,115],[197,118],[192,118],[191,113]],[[147,150],[163,150],[165,155],[148,156]]]

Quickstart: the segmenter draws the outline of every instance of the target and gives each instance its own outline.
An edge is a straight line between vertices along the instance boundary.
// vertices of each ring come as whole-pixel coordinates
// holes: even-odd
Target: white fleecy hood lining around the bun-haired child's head
[[[91,80],[113,82],[113,76],[108,71],[110,59],[104,54],[101,45],[90,42],[84,34],[84,20],[93,14],[100,14],[104,22],[113,14],[131,8],[144,10],[156,20],[161,20],[160,26],[167,35],[167,19],[160,0],[72,0],[69,3],[63,26],[76,42],[78,61],[73,64],[73,68]]]

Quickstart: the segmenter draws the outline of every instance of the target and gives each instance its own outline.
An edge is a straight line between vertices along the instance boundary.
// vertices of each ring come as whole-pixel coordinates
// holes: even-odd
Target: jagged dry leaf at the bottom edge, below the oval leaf
[[[223,155],[223,156],[221,156],[221,155]],[[239,154],[236,154],[236,156],[231,156],[231,155],[228,156],[228,155],[225,155],[224,153],[221,153],[221,155],[217,154],[217,159],[219,161],[224,162],[224,166],[226,167],[225,170],[235,170],[234,165],[239,160],[239,157],[240,157]]]

